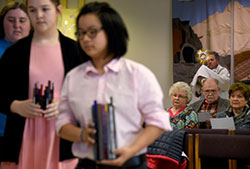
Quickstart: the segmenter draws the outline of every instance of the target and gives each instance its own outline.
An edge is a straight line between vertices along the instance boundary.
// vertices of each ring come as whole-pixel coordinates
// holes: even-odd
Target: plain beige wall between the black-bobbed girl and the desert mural
[[[85,3],[94,0],[85,0]],[[164,105],[173,83],[172,4],[170,0],[108,0],[122,16],[129,31],[127,58],[150,68],[164,92]]]

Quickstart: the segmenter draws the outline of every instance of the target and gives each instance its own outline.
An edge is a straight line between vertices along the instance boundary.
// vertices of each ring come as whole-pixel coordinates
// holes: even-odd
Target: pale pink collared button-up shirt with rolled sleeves
[[[163,107],[163,93],[155,75],[142,64],[120,58],[113,59],[99,74],[92,63],[84,63],[70,71],[64,81],[56,128],[68,123],[87,126],[94,100],[115,106],[118,148],[131,145],[143,131],[142,121],[172,130],[169,114]],[[93,150],[84,142],[75,142],[73,154],[93,159]],[[146,152],[146,148],[138,154]]]

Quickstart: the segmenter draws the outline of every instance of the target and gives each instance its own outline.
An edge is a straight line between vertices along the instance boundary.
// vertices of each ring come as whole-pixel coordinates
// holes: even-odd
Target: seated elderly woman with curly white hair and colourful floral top
[[[192,98],[190,86],[185,82],[176,82],[169,89],[169,96],[173,106],[168,109],[172,128],[198,128],[197,113],[187,106]]]

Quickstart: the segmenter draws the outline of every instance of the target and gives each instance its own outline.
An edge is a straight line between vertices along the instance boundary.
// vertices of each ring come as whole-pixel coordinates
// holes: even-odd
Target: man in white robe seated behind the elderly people
[[[193,100],[191,102],[199,99],[201,95],[201,88],[205,79],[214,78],[219,81],[219,86],[221,88],[220,96],[228,99],[227,90],[230,86],[230,74],[227,68],[222,67],[219,64],[219,55],[216,52],[210,52],[209,60],[207,62],[207,66],[202,65],[196,74],[190,86],[193,91]]]

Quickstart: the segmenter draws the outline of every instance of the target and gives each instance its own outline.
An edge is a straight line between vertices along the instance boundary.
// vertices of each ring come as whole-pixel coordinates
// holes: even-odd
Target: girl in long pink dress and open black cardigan
[[[5,86],[1,87],[6,89],[9,86],[10,88],[12,79],[18,80],[23,77],[16,84],[15,88],[19,89],[15,91],[27,90],[28,93],[27,98],[23,99],[26,95],[23,96],[18,92],[10,94],[11,90],[5,94],[3,91],[5,98],[16,96],[6,99],[10,101],[9,112],[1,109],[10,119],[6,124],[3,144],[0,143],[3,147],[3,149],[0,148],[2,151],[1,169],[73,169],[77,164],[77,159],[70,158],[73,157],[71,153],[65,155],[67,153],[60,150],[60,138],[56,135],[55,121],[58,116],[58,102],[64,76],[79,63],[76,45],[57,30],[57,18],[62,10],[59,0],[27,0],[27,6],[34,32],[8,50],[1,62],[1,66],[5,67],[8,72],[8,69],[13,66],[11,60],[18,63],[19,58],[16,55],[18,55],[18,51],[22,52],[18,56],[23,57],[22,60],[19,59],[20,63],[12,67],[15,69],[15,73],[11,74],[11,70],[8,72],[11,79],[8,79],[8,76],[2,76],[3,69],[0,69],[0,77],[6,80]],[[29,50],[21,51],[22,48]],[[16,54],[13,54],[15,52]],[[43,89],[45,89],[48,81],[52,82],[51,87],[53,84],[54,88],[53,102],[48,103],[46,108],[42,109],[40,104],[34,103],[34,85],[37,84],[38,88],[43,85]],[[2,100],[4,101],[1,98]],[[3,103],[3,107],[5,105],[8,104]],[[0,107],[2,108],[2,105]],[[15,123],[15,120],[11,119],[20,120]],[[24,121],[23,125],[20,121]],[[16,131],[16,128],[23,128],[23,130]],[[19,135],[21,135],[20,140]],[[20,146],[14,145],[13,140],[16,141],[16,145]],[[17,148],[12,149],[11,147]],[[64,157],[60,157],[63,153]],[[13,156],[16,154],[15,159]],[[64,159],[64,161],[60,162],[59,159]]]

